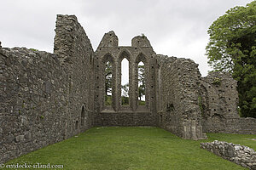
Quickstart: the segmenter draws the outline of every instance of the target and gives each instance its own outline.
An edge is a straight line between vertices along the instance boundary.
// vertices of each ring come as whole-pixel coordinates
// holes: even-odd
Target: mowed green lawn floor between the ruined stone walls
[[[94,127],[77,137],[9,161],[64,165],[64,169],[244,169],[200,148],[215,139],[247,145],[256,135],[207,133],[205,140],[185,140],[158,127]]]

